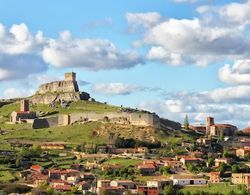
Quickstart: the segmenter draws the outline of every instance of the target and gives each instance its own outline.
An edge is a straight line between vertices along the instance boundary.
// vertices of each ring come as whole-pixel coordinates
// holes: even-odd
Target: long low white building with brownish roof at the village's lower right
[[[172,176],[173,185],[186,186],[186,185],[207,185],[207,180],[189,175],[175,175]]]

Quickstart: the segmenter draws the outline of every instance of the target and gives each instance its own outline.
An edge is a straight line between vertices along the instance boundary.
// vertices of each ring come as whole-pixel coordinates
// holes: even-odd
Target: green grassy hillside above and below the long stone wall
[[[0,135],[1,148],[9,149],[11,142],[40,144],[42,142],[65,142],[67,144],[106,143],[110,132],[120,137],[133,138],[148,142],[157,140],[162,143],[180,144],[183,140],[192,140],[190,135],[179,131],[162,131],[153,127],[139,127],[133,125],[118,125],[111,123],[90,122],[87,124],[74,124],[64,127],[34,130],[31,124],[6,124],[13,110],[19,110],[19,103],[5,105],[0,108],[0,128],[4,134]],[[79,101],[70,104],[69,108],[48,105],[33,105],[31,111],[42,112],[46,116],[66,114],[73,112],[114,112],[119,107],[98,102]]]

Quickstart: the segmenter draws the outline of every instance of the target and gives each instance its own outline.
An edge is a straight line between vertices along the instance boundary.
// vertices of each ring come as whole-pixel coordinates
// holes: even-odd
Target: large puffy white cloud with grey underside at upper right
[[[149,29],[144,44],[148,59],[171,65],[208,65],[217,60],[249,55],[250,41],[238,28],[204,25],[198,18],[169,19]]]

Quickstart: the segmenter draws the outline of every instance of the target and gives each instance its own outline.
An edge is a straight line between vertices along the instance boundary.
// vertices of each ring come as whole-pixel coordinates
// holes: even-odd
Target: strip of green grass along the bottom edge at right
[[[228,194],[231,191],[236,193],[241,193],[241,191],[237,188],[237,186],[229,185],[228,183],[221,183],[221,184],[210,184],[208,187],[185,187],[181,190],[181,192],[189,191],[191,194],[203,191],[203,192],[210,192],[210,193],[220,193],[220,194]]]

